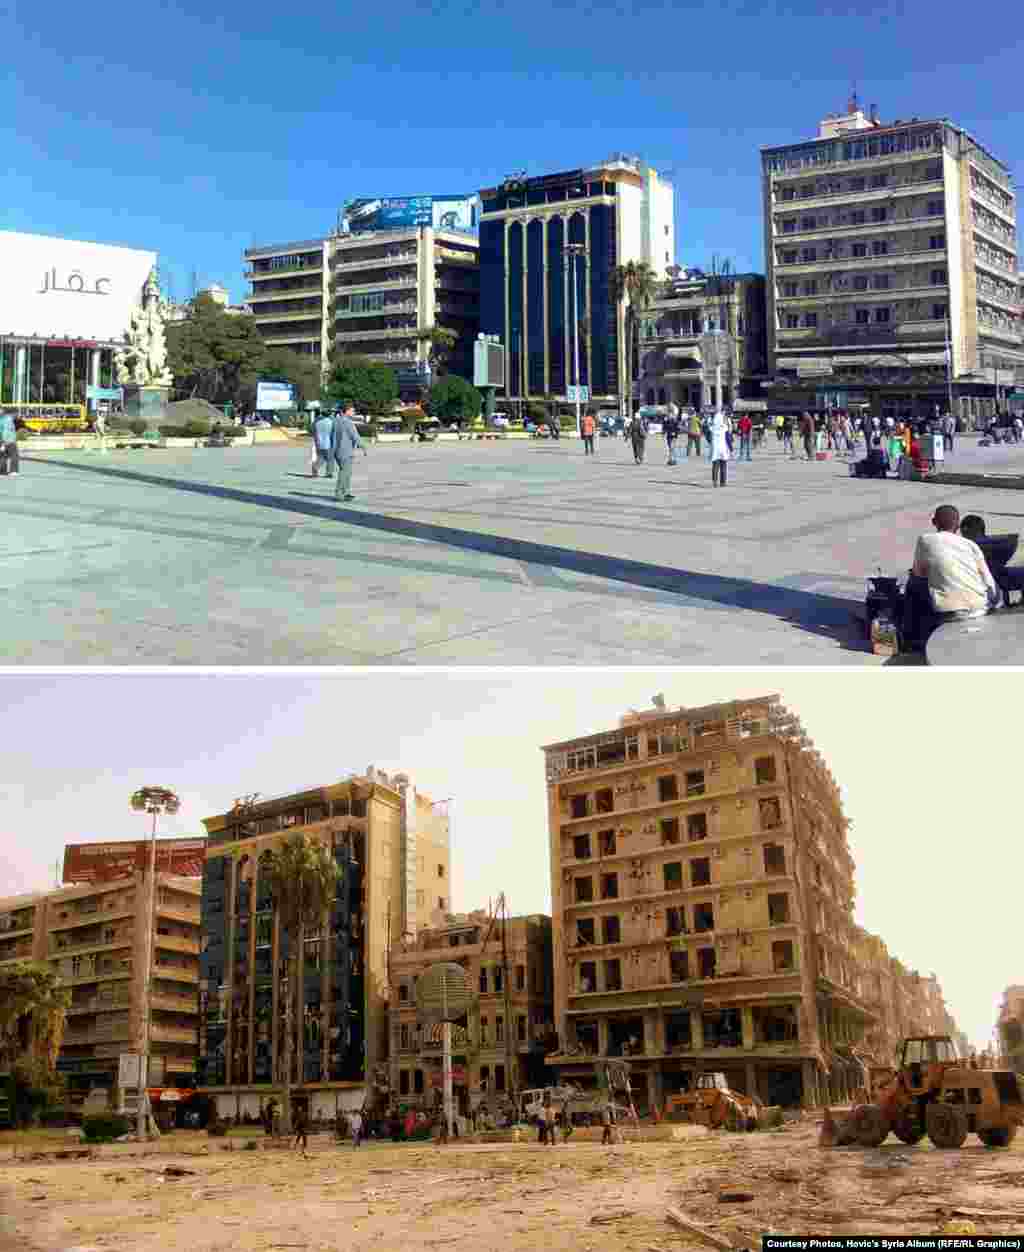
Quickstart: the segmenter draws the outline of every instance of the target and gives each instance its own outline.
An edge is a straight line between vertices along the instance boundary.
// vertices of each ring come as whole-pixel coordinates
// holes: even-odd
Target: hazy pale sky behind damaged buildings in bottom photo
[[[243,793],[274,795],[402,769],[454,796],[452,906],[504,890],[550,911],[540,745],[670,707],[779,694],[842,789],[856,920],[911,969],[935,973],[978,1047],[1003,989],[1024,982],[1016,707],[1024,675],[936,670],[424,671],[337,676],[0,676],[0,895],[54,881],[65,843],[141,838],[144,784],[174,788],[161,834]]]

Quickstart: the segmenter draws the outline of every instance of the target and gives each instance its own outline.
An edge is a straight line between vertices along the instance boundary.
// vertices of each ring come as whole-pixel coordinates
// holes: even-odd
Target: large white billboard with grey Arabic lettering
[[[155,252],[0,230],[0,326],[121,343],[155,264]]]

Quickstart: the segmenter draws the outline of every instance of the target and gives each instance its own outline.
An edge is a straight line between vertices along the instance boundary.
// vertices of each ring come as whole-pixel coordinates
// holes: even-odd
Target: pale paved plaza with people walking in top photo
[[[308,444],[26,453],[0,478],[3,664],[878,665],[864,578],[936,503],[1016,531],[1024,492],[851,480],[772,437],[712,490],[660,437],[379,444],[353,505]],[[1024,472],[959,441],[950,468]]]

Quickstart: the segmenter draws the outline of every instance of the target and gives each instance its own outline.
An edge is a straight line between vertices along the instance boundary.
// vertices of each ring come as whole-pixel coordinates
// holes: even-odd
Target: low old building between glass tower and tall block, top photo
[[[676,269],[645,309],[640,339],[640,399],[645,404],[707,408],[715,373],[701,361],[701,336],[731,336],[722,402],[760,394],[766,371],[764,274],[705,274]]]

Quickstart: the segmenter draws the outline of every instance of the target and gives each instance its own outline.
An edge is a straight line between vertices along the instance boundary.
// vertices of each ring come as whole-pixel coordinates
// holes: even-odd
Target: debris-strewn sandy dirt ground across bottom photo
[[[736,1249],[760,1236],[1024,1231],[1024,1137],[959,1152],[895,1139],[817,1146],[819,1122],[681,1142],[369,1143],[310,1138],[288,1151],[222,1151],[178,1133],[159,1151],[124,1144],[88,1162],[0,1152],[0,1252],[392,1249],[675,1252],[711,1244],[666,1221],[673,1206]],[[164,1174],[184,1167],[182,1177]],[[724,1196],[739,1193],[740,1198]],[[744,1198],[746,1197],[746,1198]],[[963,1232],[960,1232],[963,1233]]]

